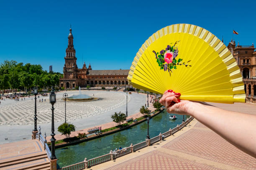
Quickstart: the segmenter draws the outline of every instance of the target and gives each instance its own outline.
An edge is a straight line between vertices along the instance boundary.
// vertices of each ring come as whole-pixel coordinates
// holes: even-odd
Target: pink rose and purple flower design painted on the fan
[[[182,62],[182,58],[177,58],[179,54],[178,47],[175,46],[179,43],[179,41],[176,41],[174,45],[172,43],[170,45],[167,45],[165,50],[161,50],[159,52],[154,52],[156,55],[156,62],[158,63],[160,70],[164,69],[164,71],[168,71],[171,75],[172,69],[177,69],[178,65],[184,65],[186,67],[191,67],[192,65],[189,65],[188,62]]]

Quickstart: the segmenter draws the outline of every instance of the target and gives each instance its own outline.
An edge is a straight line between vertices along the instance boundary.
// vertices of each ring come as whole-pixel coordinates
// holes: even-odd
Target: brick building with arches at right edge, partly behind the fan
[[[228,49],[233,54],[243,76],[246,101],[256,103],[256,51],[254,45],[239,45],[231,40]]]

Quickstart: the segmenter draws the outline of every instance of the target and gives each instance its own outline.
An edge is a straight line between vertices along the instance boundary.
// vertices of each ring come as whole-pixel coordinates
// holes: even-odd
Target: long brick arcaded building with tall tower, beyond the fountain
[[[125,87],[128,86],[129,70],[92,70],[89,64],[84,65],[81,69],[77,67],[76,50],[73,45],[72,29],[69,29],[68,47],[64,57],[65,64],[63,67],[63,78],[60,78],[60,87],[65,89],[74,88],[76,86],[87,87]]]

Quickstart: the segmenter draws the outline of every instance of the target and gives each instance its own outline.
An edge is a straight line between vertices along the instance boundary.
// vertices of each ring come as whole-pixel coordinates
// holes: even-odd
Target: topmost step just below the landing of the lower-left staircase
[[[45,152],[32,153],[32,154],[28,154],[28,155],[15,156],[13,158],[7,158],[7,159],[4,159],[4,160],[1,160],[0,167],[2,167],[4,164],[6,165],[7,163],[13,163],[13,162],[26,160],[26,159],[30,159],[30,158],[36,158],[36,157],[40,157],[40,156],[43,156],[43,155],[46,155],[46,153]]]

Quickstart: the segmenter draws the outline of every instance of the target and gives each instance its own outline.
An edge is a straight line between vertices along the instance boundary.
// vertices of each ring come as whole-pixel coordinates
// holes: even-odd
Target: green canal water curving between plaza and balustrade
[[[175,128],[178,124],[182,123],[183,116],[176,115],[177,120],[169,120],[170,114],[166,110],[162,111],[149,121],[149,136],[153,138],[159,133],[164,133],[170,128]],[[185,120],[187,119],[185,115]],[[63,148],[56,149],[56,157],[58,158],[57,164],[59,168],[67,165],[72,165],[87,160],[96,158],[101,155],[108,154],[110,150],[115,148],[129,147],[141,143],[146,139],[147,135],[147,122],[142,122],[126,130],[113,133],[111,135],[103,136],[94,140],[89,140],[75,145],[69,145]]]

